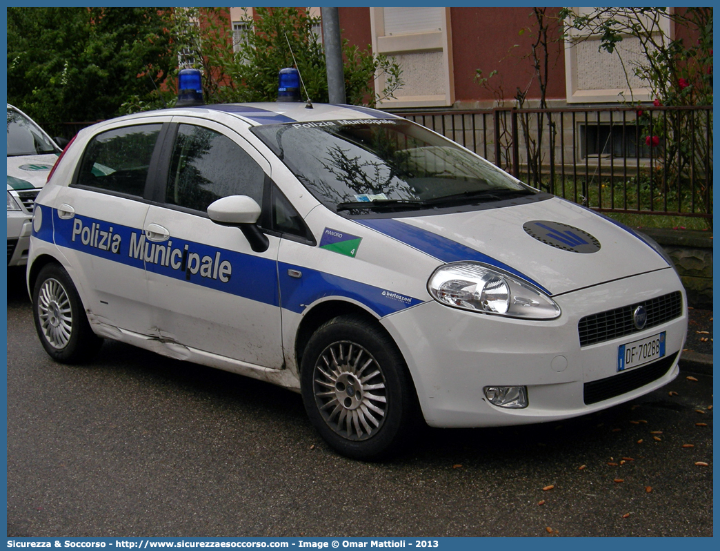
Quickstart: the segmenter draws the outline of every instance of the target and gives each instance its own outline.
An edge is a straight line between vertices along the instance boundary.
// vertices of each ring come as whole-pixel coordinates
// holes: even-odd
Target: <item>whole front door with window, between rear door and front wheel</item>
[[[165,185],[144,226],[154,324],[166,342],[280,369],[279,237],[253,252],[240,229],[207,216],[207,206],[228,195],[262,206],[270,165],[223,125],[174,122],[163,147]]]

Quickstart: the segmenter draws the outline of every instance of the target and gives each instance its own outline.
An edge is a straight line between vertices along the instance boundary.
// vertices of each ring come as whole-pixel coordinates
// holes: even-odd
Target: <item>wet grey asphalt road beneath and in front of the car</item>
[[[8,296],[9,537],[713,534],[711,376],[562,423],[428,429],[367,464],[269,384],[119,343],[54,363],[12,270]]]

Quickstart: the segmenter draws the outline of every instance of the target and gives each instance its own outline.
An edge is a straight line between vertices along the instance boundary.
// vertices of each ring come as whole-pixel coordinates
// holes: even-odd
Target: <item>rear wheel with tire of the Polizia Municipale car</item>
[[[78,291],[66,270],[48,264],[32,291],[32,317],[45,351],[61,363],[83,363],[102,345],[88,322]]]

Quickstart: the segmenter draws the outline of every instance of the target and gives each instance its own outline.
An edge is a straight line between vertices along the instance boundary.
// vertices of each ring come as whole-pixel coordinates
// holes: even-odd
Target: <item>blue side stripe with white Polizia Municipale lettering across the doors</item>
[[[282,307],[298,314],[307,305],[326,296],[353,299],[372,309],[379,317],[423,302],[339,275],[186,239],[170,237],[165,242],[150,242],[141,229],[77,214],[72,219],[61,219],[54,208],[52,218],[53,226],[43,224],[40,232],[33,230],[33,237],[54,242],[58,247],[275,307],[281,306],[282,297]],[[113,245],[115,242],[117,247]],[[197,255],[197,258],[191,259],[191,255]],[[227,263],[225,271],[222,270],[223,263]],[[232,268],[235,268],[235,273]],[[287,275],[289,268],[300,270],[302,278],[290,278]],[[195,273],[192,273],[193,269]],[[278,278],[278,269],[283,274],[281,278]]]

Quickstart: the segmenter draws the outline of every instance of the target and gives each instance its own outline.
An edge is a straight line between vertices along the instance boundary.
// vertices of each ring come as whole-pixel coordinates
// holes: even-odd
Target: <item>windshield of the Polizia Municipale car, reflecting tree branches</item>
[[[252,131],[336,211],[427,208],[535,193],[453,141],[403,119],[288,123]]]

